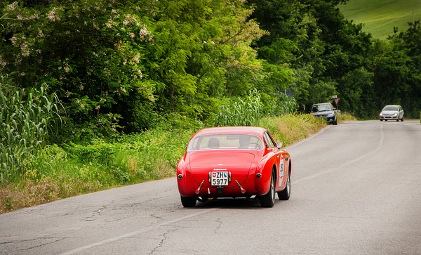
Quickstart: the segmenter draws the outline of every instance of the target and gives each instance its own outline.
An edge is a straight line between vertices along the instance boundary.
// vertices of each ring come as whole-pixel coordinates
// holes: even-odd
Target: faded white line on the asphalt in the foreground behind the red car
[[[145,233],[145,232],[150,231],[150,230],[153,230],[155,228],[159,228],[159,227],[161,227],[163,225],[169,225],[169,224],[172,224],[172,223],[176,223],[176,222],[185,220],[186,218],[193,218],[193,217],[199,216],[201,214],[207,214],[207,213],[209,213],[211,211],[216,211],[216,210],[218,210],[218,209],[208,209],[208,210],[204,210],[204,211],[198,211],[195,214],[189,214],[189,215],[183,216],[181,218],[176,218],[173,221],[166,221],[166,222],[163,222],[163,223],[159,223],[157,225],[151,225],[151,226],[149,226],[147,228],[142,228],[141,230],[133,231],[131,233],[127,233],[127,234],[124,234],[124,235],[118,235],[116,237],[112,237],[112,238],[109,238],[107,240],[102,240],[100,242],[94,242],[93,244],[88,244],[88,245],[85,245],[83,247],[72,249],[72,250],[66,251],[65,253],[62,253],[60,255],[76,254],[76,253],[78,253],[80,251],[84,251],[86,249],[91,249],[93,247],[97,247],[97,246],[100,246],[100,245],[103,245],[103,244],[109,244],[110,242],[116,242],[116,241],[119,241],[119,240],[124,239],[124,238],[127,238],[127,237],[132,237],[133,235],[138,235],[140,233]]]

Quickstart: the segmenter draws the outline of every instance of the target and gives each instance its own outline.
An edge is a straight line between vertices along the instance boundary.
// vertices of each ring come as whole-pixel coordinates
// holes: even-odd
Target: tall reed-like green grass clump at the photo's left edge
[[[58,98],[44,87],[20,89],[8,77],[0,79],[0,183],[22,174],[36,160],[48,135],[61,124]]]

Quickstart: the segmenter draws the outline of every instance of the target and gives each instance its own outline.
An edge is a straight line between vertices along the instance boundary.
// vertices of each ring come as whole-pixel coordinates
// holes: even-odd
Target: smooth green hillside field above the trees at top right
[[[338,7],[345,18],[363,23],[363,30],[378,39],[387,39],[394,27],[405,31],[408,22],[421,19],[421,0],[349,0]]]

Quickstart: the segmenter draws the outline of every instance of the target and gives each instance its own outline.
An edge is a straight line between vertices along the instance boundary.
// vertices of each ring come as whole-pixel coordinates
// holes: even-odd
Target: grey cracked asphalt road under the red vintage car
[[[421,125],[347,122],[285,148],[273,208],[180,204],[175,178],[0,215],[0,254],[421,254]]]

